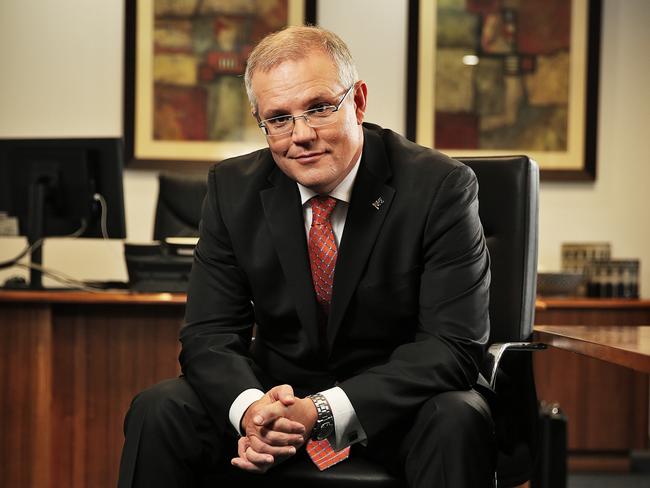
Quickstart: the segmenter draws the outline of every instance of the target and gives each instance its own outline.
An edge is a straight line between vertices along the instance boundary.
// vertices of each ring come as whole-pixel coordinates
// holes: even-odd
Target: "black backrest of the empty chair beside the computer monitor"
[[[161,173],[153,238],[199,235],[201,206],[207,193],[205,176]]]

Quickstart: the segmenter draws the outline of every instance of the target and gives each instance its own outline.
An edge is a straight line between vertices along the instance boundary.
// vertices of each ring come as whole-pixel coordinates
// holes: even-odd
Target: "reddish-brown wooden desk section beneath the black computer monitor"
[[[184,308],[184,295],[0,291],[0,486],[116,486],[131,399],[179,373]]]

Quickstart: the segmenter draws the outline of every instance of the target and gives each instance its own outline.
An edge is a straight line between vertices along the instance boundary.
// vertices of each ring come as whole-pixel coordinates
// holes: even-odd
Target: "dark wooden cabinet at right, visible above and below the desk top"
[[[650,325],[650,301],[542,298],[535,323]],[[570,467],[624,469],[630,450],[647,449],[648,375],[554,348],[534,361],[539,398],[569,419]]]

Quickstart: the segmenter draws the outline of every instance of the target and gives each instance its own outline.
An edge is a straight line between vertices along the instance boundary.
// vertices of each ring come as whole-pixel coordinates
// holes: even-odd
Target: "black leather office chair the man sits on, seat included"
[[[537,396],[527,342],[532,335],[537,275],[539,172],[525,156],[459,158],[479,181],[479,214],[490,250],[490,360],[484,375],[496,386],[499,440],[498,486],[531,479],[536,458]],[[520,352],[510,353],[509,350]],[[498,368],[497,368],[498,366]],[[496,385],[495,385],[496,383]],[[354,453],[354,450],[352,451]],[[319,472],[311,463],[279,465],[263,477],[232,468],[203,486],[309,486],[403,488],[379,465],[354,454]],[[300,483],[300,484],[299,484]]]

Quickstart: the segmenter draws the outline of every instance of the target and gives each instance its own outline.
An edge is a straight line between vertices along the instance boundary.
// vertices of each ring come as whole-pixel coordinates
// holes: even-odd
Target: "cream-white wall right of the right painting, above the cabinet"
[[[641,257],[650,297],[650,2],[606,0],[600,62],[598,176],[546,183],[540,264],[559,267],[562,241],[610,241],[616,257]]]

